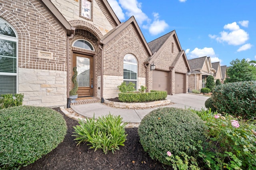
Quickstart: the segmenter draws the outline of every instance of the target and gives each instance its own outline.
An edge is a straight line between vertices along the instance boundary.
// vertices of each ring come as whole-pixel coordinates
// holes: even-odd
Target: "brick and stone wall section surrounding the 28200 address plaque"
[[[24,93],[24,104],[65,105],[67,58],[64,29],[38,0],[2,2],[0,17],[18,34],[18,93]],[[38,56],[38,51],[52,53],[52,59]],[[48,103],[47,98],[56,100]]]

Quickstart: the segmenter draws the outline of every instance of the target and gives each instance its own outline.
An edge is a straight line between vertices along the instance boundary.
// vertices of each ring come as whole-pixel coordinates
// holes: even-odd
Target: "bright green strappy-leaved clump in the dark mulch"
[[[108,153],[108,150],[111,150],[114,154],[114,151],[119,150],[119,145],[124,146],[126,141],[125,134],[125,125],[127,123],[122,122],[122,117],[120,115],[106,115],[99,117],[98,120],[88,119],[79,120],[80,125],[74,127],[76,135],[77,145],[80,143],[86,143],[90,145],[90,149],[94,151],[102,149],[105,154]]]

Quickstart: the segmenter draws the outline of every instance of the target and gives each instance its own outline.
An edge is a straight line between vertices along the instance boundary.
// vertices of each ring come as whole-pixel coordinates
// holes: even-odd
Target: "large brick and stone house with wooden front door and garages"
[[[151,70],[151,65],[155,70]],[[79,97],[136,90],[188,92],[190,66],[175,31],[147,43],[134,17],[121,23],[107,0],[7,0],[0,6],[0,94],[25,105],[66,106],[72,68]]]

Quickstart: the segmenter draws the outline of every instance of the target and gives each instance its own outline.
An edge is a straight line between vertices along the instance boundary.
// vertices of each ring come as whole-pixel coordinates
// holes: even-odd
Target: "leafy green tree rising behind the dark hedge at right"
[[[246,61],[246,59],[232,60],[230,62],[231,66],[227,70],[227,76],[224,83],[229,82],[241,82],[256,80],[256,66],[254,61]]]

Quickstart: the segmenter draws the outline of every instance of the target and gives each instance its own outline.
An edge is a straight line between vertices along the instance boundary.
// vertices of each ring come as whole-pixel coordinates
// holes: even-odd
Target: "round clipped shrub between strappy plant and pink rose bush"
[[[181,151],[188,155],[198,149],[198,142],[205,141],[204,122],[196,113],[189,110],[162,107],[148,113],[138,127],[140,143],[152,159],[164,164],[166,152],[180,155]]]

